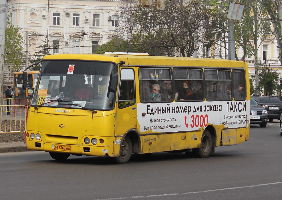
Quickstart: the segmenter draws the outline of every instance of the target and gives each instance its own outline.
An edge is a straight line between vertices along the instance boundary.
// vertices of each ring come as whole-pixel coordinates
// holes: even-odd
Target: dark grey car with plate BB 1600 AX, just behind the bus
[[[250,124],[259,124],[260,127],[266,127],[268,114],[266,109],[261,105],[259,105],[253,97],[251,97]]]

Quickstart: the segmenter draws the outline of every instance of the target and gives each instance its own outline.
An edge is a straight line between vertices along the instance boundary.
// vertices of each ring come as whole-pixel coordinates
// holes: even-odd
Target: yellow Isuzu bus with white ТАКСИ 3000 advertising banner
[[[41,87],[45,95],[38,94]],[[126,163],[132,153],[162,151],[206,158],[217,146],[247,141],[249,121],[246,62],[118,52],[46,55],[26,143],[58,160],[72,154]]]

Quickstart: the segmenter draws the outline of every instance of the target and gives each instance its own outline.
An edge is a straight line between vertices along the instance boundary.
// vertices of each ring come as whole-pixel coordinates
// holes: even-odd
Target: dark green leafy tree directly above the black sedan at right
[[[264,91],[265,95],[273,95],[273,91],[279,91],[281,89],[280,80],[281,76],[270,66],[263,66],[260,68],[259,73],[259,87]]]

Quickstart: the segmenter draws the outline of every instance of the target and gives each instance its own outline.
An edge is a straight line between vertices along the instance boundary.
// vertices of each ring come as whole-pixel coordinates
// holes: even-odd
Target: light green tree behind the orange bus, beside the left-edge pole
[[[12,71],[19,71],[23,67],[23,37],[19,33],[21,28],[15,28],[10,18],[8,15],[5,30],[5,63],[13,65]]]

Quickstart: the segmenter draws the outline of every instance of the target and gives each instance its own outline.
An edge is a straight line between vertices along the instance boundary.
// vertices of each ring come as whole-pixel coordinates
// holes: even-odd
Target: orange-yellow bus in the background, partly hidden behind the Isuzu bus
[[[23,89],[23,72],[17,71],[14,73],[13,91],[15,99],[31,99],[33,97],[38,74],[39,71],[27,71],[27,89]]]

